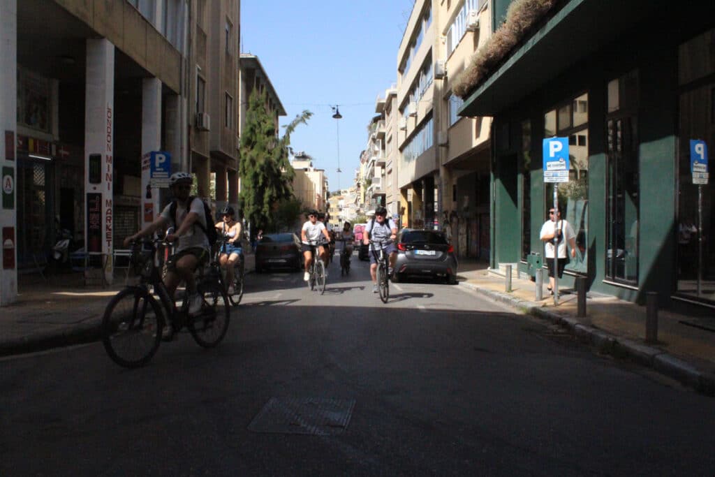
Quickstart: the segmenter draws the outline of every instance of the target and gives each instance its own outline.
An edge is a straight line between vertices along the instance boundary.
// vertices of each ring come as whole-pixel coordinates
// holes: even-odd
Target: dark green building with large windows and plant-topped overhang
[[[714,308],[715,195],[697,184],[715,148],[712,2],[548,1],[510,17],[510,1],[492,3],[494,36],[510,42],[470,67],[483,73],[459,112],[494,118],[491,267],[533,273],[553,208],[543,144],[564,137],[556,195],[577,255],[563,286],[583,276],[627,300]]]

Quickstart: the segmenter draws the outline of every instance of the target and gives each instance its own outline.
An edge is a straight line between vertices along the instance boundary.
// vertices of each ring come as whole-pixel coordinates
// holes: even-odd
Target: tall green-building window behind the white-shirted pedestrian
[[[566,270],[585,274],[588,272],[588,94],[546,112],[543,129],[544,137],[568,137],[571,169],[568,182],[558,184],[558,207],[576,232],[576,259],[571,259]],[[553,186],[553,183],[544,185],[545,210],[553,207]]]

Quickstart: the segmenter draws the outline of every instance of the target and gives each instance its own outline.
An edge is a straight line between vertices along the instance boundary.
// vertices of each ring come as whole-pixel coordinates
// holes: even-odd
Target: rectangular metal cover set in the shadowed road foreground
[[[350,423],[355,400],[270,398],[248,425],[260,433],[342,434]]]

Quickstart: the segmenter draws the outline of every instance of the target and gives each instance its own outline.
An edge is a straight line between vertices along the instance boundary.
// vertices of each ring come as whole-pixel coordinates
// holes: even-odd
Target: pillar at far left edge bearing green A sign
[[[0,0],[0,306],[17,299],[17,1]]]

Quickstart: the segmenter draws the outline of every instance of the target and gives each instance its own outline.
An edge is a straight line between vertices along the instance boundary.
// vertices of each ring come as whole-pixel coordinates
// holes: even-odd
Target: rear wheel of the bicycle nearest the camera
[[[223,287],[215,280],[207,280],[197,286],[204,299],[201,314],[189,318],[189,333],[194,341],[204,348],[219,344],[226,335],[231,310]]]

